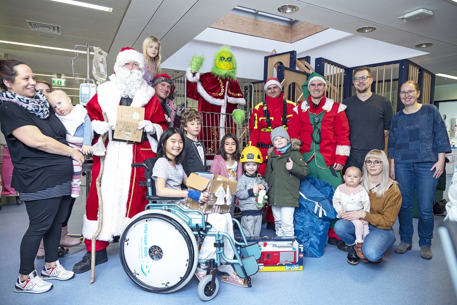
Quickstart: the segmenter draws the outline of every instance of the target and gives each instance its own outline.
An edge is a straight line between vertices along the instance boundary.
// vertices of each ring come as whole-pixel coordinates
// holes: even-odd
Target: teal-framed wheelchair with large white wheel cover
[[[222,259],[232,264],[240,278],[245,278],[251,287],[251,276],[258,271],[257,259],[260,250],[257,243],[248,245],[240,223],[233,219],[241,232],[241,241],[232,239],[225,232],[209,231],[211,225],[205,222],[200,210],[187,209],[176,203],[183,198],[156,196],[152,168],[157,158],[134,163],[132,167],[145,169],[146,181],[140,186],[147,187],[145,210],[137,214],[124,227],[120,242],[119,256],[127,276],[145,290],[156,293],[170,293],[184,287],[192,278],[197,264],[209,266],[207,275],[200,281],[199,297],[208,301],[219,290],[216,278],[217,266]],[[199,243],[205,236],[214,236],[216,258],[200,260]],[[197,242],[199,240],[200,242]],[[230,243],[235,258],[224,255],[224,242]],[[240,255],[241,254],[241,255]]]

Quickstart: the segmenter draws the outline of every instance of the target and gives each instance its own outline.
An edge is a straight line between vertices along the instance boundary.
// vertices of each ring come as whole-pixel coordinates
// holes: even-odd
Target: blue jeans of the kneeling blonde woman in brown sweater
[[[370,233],[365,237],[362,250],[369,261],[376,262],[382,258],[387,249],[394,245],[394,242],[396,241],[395,233],[392,228],[383,230],[370,224],[368,226],[370,227]],[[335,224],[334,230],[346,245],[354,245],[355,227],[352,222],[340,219]]]

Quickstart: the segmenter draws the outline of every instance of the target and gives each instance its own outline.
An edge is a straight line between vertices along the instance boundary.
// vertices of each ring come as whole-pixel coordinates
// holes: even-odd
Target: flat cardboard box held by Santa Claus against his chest
[[[144,120],[144,108],[117,106],[113,137],[119,140],[140,142],[143,130],[138,130],[138,124],[142,120]]]

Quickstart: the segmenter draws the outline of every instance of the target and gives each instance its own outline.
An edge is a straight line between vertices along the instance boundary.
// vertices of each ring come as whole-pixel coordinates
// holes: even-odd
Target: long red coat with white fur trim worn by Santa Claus
[[[116,124],[117,106],[120,104],[116,101],[120,101],[121,93],[113,78],[110,78],[111,81],[103,83],[97,88],[97,94],[87,103],[87,113],[94,123],[95,121],[104,121],[102,115],[102,111],[104,111],[109,123]],[[153,123],[157,139],[159,139],[168,123],[154,93],[154,89],[142,80],[130,106],[145,108],[144,119]],[[101,180],[103,226],[97,240],[108,241],[112,236],[120,235],[125,222],[143,211],[147,204],[146,187],[138,185],[138,181],[145,179],[144,170],[131,167],[132,163],[144,162],[147,158],[156,157],[158,142],[150,135],[147,135],[147,138],[148,141],[135,144],[107,141],[105,167]],[[94,139],[94,141],[96,140]],[[86,239],[91,239],[98,227],[99,198],[95,179],[99,172],[100,157],[93,156],[92,182],[86,201],[86,214],[84,215],[82,229],[82,235]]]

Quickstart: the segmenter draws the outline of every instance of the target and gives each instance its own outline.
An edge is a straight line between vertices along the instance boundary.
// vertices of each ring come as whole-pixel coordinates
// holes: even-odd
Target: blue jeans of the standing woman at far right
[[[402,192],[402,207],[398,214],[400,240],[409,243],[409,245],[412,245],[414,233],[412,224],[414,190],[416,190],[417,208],[419,210],[419,222],[417,224],[419,246],[430,247],[432,245],[433,200],[438,184],[438,179],[433,177],[435,170],[430,170],[434,164],[435,162],[395,164],[395,179]]]

